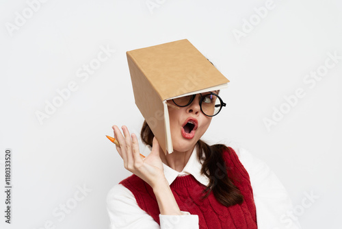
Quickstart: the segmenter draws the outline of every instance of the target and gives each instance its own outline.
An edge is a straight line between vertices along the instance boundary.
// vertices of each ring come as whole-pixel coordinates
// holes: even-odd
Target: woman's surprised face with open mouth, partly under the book
[[[174,104],[168,100],[169,104]],[[176,152],[187,152],[194,149],[197,141],[209,128],[212,117],[204,115],[200,110],[200,95],[194,101],[179,109],[168,106],[173,149]]]

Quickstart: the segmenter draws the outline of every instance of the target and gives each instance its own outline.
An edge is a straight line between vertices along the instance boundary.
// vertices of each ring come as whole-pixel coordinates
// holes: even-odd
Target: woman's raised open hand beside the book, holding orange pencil
[[[116,125],[113,125],[113,130],[114,138],[120,143],[120,147],[116,146],[116,150],[124,160],[125,169],[142,178],[152,188],[159,182],[166,180],[163,173],[163,162],[159,156],[159,143],[156,138],[153,138],[152,152],[142,159],[137,136],[135,134],[130,135],[126,126],[122,126],[124,136]]]

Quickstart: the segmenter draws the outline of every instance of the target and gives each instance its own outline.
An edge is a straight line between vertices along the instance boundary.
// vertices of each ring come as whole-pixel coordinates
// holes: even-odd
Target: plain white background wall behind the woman
[[[231,80],[221,93],[227,107],[204,139],[233,141],[267,162],[304,210],[303,228],[341,228],[342,60],[314,86],[303,81],[324,69],[327,53],[342,56],[341,1],[274,0],[239,39],[234,29],[244,32],[266,1],[50,0],[31,15],[30,2],[0,7],[1,190],[6,148],[13,169],[12,224],[1,191],[1,228],[108,228],[105,197],[130,173],[105,134],[114,124],[139,133],[143,121],[125,52],[183,38]],[[21,25],[18,15],[27,17]],[[101,47],[116,51],[78,77]],[[36,113],[70,82],[77,90],[41,124]],[[284,97],[298,88],[305,96],[267,130],[263,119],[289,108]],[[77,186],[91,190],[80,201]],[[304,193],[319,197],[304,208]],[[63,204],[72,206],[64,219],[53,215]]]

